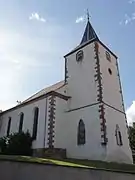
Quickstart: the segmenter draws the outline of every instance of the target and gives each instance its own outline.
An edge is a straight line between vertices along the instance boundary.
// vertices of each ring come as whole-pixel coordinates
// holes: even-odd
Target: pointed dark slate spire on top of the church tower
[[[94,31],[94,29],[88,19],[88,22],[87,22],[87,25],[85,28],[85,32],[84,32],[84,35],[83,35],[80,45],[82,45],[83,43],[86,43],[87,41],[94,40],[94,39],[99,40],[96,32]]]

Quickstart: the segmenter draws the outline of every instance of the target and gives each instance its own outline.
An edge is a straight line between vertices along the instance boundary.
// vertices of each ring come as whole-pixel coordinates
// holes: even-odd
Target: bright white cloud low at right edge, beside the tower
[[[126,110],[127,121],[129,125],[135,122],[135,101],[132,102],[131,106]]]

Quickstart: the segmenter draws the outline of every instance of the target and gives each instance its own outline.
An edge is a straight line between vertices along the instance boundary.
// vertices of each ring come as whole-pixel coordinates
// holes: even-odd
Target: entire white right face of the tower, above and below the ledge
[[[100,59],[100,70],[102,74],[103,84],[103,101],[110,106],[105,106],[105,117],[107,125],[107,158],[109,160],[121,160],[121,161],[132,161],[132,153],[129,147],[127,124],[125,118],[125,112],[122,101],[122,94],[120,92],[120,81],[117,68],[117,59],[111,53],[111,62],[106,59],[106,51],[101,44],[99,44],[99,59]],[[108,72],[108,68],[111,69],[112,74]],[[121,112],[119,112],[119,111]],[[116,124],[119,125],[123,146],[118,146],[116,143]]]

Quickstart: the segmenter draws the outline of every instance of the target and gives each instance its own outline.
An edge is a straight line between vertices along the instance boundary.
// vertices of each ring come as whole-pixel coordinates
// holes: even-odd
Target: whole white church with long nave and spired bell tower
[[[35,153],[132,163],[118,58],[89,18],[81,43],[64,58],[63,81],[0,113],[0,137],[28,130]]]

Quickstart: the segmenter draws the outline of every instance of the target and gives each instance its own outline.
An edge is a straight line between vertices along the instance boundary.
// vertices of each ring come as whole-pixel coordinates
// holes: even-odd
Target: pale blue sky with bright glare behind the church
[[[134,0],[1,0],[0,109],[63,79],[63,56],[79,44],[87,8],[98,36],[119,57],[125,106],[135,118]]]

